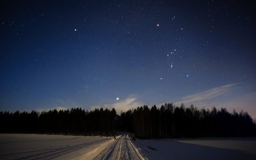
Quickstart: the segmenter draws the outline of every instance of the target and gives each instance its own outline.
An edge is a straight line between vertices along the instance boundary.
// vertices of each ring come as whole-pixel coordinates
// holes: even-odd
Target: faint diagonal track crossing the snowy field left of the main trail
[[[22,158],[18,158],[16,160],[52,160],[64,154],[68,154],[70,152],[74,152],[76,150],[80,150],[82,148],[91,147],[91,145],[101,144],[104,141],[109,140],[109,138],[103,140],[97,140],[94,142],[86,142],[83,144],[73,145],[73,146],[66,146],[62,148],[54,148],[49,150],[41,150],[42,152],[36,154],[30,154],[28,156],[24,156]]]

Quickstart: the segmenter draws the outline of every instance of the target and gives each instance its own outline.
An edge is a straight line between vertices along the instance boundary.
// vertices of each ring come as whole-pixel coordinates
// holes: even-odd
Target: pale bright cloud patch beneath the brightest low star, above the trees
[[[137,108],[138,106],[143,106],[142,102],[139,102],[136,98],[130,97],[125,100],[120,100],[114,104],[104,104],[100,106],[92,106],[91,109],[94,110],[95,108],[115,108],[116,113],[120,114],[122,111],[127,111],[132,108]]]

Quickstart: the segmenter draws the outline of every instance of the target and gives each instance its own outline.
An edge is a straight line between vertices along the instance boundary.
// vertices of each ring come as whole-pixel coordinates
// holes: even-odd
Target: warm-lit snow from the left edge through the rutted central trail
[[[0,134],[1,160],[144,160],[128,135],[114,138],[40,134]]]

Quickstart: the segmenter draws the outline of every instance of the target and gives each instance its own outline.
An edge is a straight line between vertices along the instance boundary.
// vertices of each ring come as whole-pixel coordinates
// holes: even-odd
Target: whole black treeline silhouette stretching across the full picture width
[[[141,106],[116,114],[114,108],[49,110],[41,113],[0,112],[1,133],[113,135],[134,132],[140,138],[196,138],[256,136],[256,124],[247,112],[226,108],[186,108],[172,103],[160,108]]]

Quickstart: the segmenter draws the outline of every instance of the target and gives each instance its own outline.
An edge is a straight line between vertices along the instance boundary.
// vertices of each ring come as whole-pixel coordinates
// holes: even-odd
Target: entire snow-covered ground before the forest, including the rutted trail
[[[256,138],[200,138],[132,141],[114,138],[0,134],[0,160],[256,160]]]

